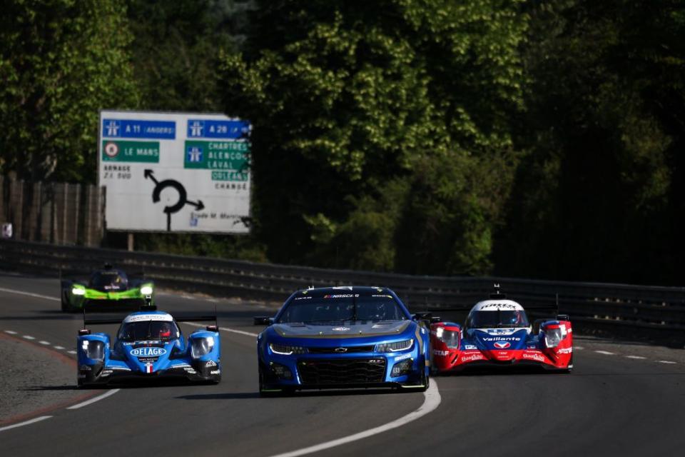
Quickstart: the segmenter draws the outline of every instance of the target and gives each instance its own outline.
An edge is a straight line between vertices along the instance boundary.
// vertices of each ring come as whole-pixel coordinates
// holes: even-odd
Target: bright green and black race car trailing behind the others
[[[146,297],[153,298],[154,283],[143,278],[129,278],[123,271],[106,264],[93,271],[88,281],[61,281],[62,311],[108,311],[139,308]]]

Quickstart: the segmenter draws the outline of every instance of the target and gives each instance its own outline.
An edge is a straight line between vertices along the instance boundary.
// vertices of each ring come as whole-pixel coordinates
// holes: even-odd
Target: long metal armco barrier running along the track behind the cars
[[[126,271],[144,272],[160,286],[266,301],[283,301],[296,289],[309,286],[387,286],[397,292],[412,310],[441,314],[448,308],[472,305],[492,291],[493,283],[499,283],[502,291],[524,306],[554,304],[558,297],[559,311],[571,316],[575,328],[666,339],[679,346],[685,343],[683,287],[410,276],[0,241],[3,269],[84,276],[106,261]]]

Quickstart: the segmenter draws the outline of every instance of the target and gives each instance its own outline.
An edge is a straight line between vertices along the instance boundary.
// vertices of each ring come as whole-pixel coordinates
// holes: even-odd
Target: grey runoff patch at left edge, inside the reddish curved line
[[[84,396],[76,388],[76,361],[37,344],[0,332],[0,426]]]

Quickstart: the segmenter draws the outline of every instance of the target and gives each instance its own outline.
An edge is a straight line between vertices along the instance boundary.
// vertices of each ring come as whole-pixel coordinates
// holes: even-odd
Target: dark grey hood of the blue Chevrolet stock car
[[[270,328],[284,338],[366,338],[399,335],[412,321],[346,321],[345,323],[275,323]]]

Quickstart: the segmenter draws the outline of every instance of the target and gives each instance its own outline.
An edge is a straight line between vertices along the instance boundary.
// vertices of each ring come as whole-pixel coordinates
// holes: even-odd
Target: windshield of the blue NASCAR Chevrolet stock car
[[[326,293],[295,296],[276,323],[338,323],[344,321],[401,321],[407,319],[390,294]]]

